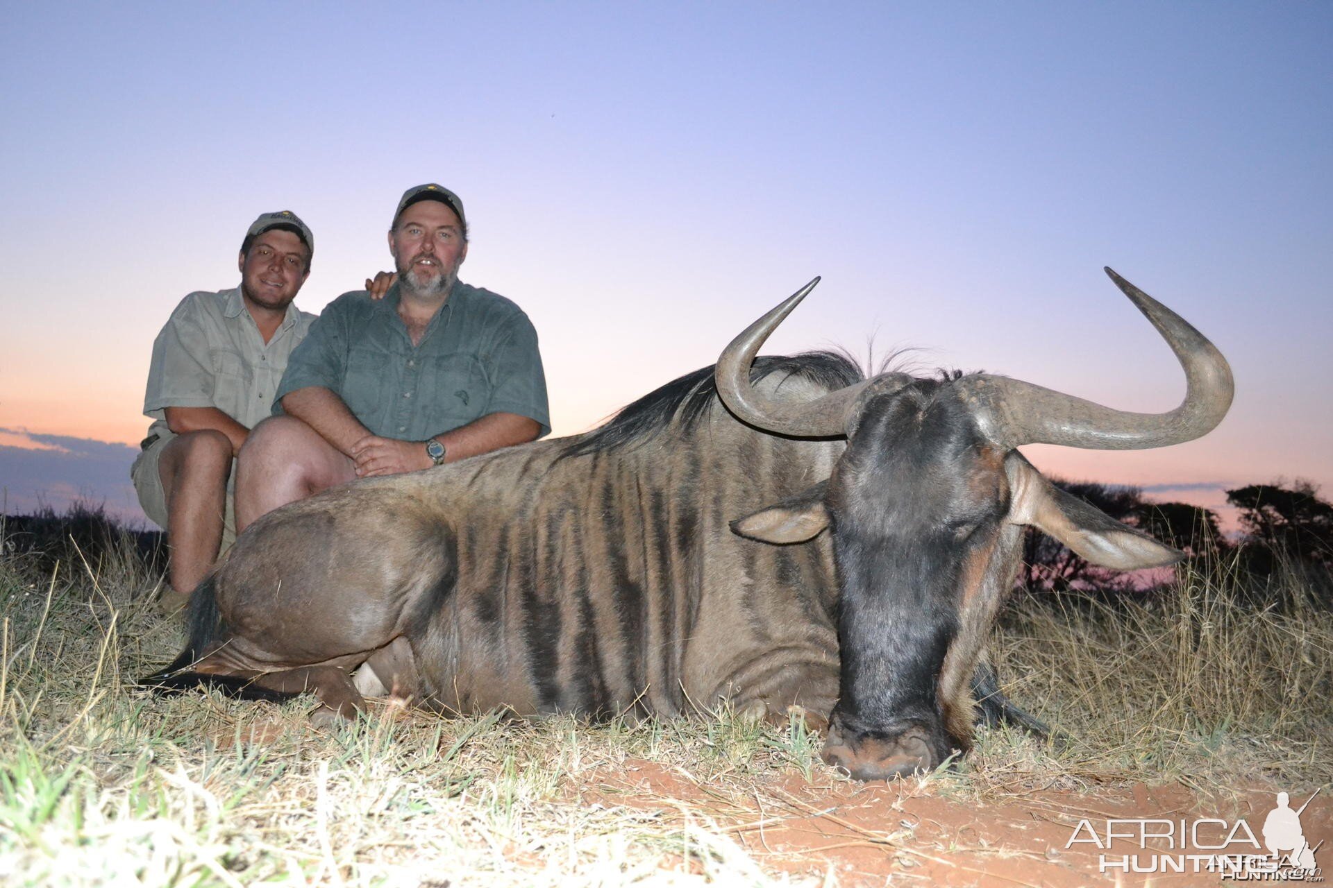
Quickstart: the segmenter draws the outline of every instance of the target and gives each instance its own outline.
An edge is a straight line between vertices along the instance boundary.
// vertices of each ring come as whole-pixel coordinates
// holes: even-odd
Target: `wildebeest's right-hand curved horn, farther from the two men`
[[[1092,450],[1145,450],[1208,434],[1226,415],[1234,382],[1222,353],[1182,317],[1109,268],[1106,274],[1138,306],[1185,369],[1185,399],[1168,413],[1126,413],[1004,377],[958,381],[981,431],[1005,447],[1052,443]]]

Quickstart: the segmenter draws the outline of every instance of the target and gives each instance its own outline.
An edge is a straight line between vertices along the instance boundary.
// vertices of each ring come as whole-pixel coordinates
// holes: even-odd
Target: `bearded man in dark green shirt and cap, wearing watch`
[[[551,431],[537,332],[509,300],[459,280],[463,201],[409,188],[389,228],[397,281],[331,302],[287,365],[284,415],[241,450],[236,519],[355,478],[392,475]],[[275,409],[275,413],[277,409]]]

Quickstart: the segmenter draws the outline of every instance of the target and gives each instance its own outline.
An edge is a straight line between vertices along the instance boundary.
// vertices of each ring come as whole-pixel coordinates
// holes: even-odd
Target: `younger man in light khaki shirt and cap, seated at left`
[[[264,213],[245,233],[240,286],[196,292],[153,342],[144,413],[153,419],[131,478],[171,546],[164,611],[179,610],[236,539],[235,457],[269,415],[287,358],[313,314],[292,305],[315,238],[295,213]]]

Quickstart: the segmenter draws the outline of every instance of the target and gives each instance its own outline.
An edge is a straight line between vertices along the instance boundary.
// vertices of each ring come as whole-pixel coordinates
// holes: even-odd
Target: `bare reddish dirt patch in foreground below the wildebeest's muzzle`
[[[832,873],[830,884],[844,887],[1225,884],[1218,873],[1193,872],[1189,860],[1184,861],[1185,872],[1162,872],[1168,864],[1157,863],[1158,855],[1266,853],[1248,841],[1237,820],[1245,820],[1262,844],[1265,819],[1277,804],[1272,791],[1214,795],[1181,783],[1108,785],[1084,792],[1016,788],[980,801],[952,796],[948,784],[938,780],[862,784],[821,780],[818,775],[813,780],[777,779],[738,803],[732,792],[644,760],[631,760],[616,774],[596,775],[576,795],[584,804],[709,819],[765,868],[793,875]],[[1305,796],[1296,796],[1290,807],[1305,801]],[[1145,848],[1137,839],[1116,837],[1109,848],[1093,840],[1096,832],[1105,844],[1108,820],[1140,819],[1172,821],[1149,831],[1170,829],[1173,837],[1149,839]],[[1204,819],[1214,821],[1194,827]],[[1086,827],[1080,828],[1084,820]],[[1333,857],[1333,843],[1326,843],[1333,837],[1333,799],[1316,795],[1300,820],[1317,863]],[[1134,832],[1134,825],[1116,824],[1113,831]],[[1234,840],[1217,849],[1232,832]],[[1070,843],[1072,837],[1080,840]],[[1328,847],[1320,847],[1321,841]],[[1101,872],[1102,855],[1112,861],[1129,856],[1130,865],[1156,865],[1158,872],[1126,873],[1116,867]]]

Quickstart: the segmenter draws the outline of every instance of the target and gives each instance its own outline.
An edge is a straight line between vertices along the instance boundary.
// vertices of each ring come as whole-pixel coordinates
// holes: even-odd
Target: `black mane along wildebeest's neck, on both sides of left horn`
[[[833,351],[756,358],[750,367],[750,381],[757,382],[774,373],[809,379],[829,390],[862,379],[856,363]],[[583,457],[643,443],[661,431],[673,418],[682,427],[689,427],[698,422],[716,395],[713,366],[700,367],[621,407],[604,426],[571,443],[561,457]]]

